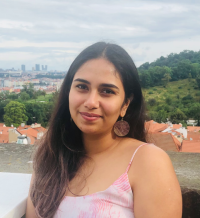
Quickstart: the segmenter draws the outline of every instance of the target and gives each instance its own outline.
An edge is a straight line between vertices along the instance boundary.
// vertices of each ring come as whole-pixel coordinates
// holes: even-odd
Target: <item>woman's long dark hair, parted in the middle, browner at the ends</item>
[[[115,44],[98,42],[87,47],[69,68],[48,131],[34,157],[35,180],[31,199],[40,217],[54,216],[69,182],[86,158],[81,131],[70,120],[69,91],[77,70],[86,61],[97,58],[105,58],[113,63],[120,74],[125,90],[124,102],[133,97],[124,117],[130,125],[127,137],[146,142],[143,96],[133,60]]]

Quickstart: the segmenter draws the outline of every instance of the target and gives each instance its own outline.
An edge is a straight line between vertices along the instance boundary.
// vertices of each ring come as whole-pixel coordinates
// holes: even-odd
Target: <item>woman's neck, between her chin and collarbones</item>
[[[120,141],[121,138],[113,135],[112,132],[103,135],[83,134],[84,147],[89,156],[97,155],[105,151],[111,150]]]

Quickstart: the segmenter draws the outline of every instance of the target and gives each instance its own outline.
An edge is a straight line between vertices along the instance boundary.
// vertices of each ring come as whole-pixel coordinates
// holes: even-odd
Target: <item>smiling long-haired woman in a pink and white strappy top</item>
[[[131,57],[114,44],[89,46],[72,63],[36,152],[27,218],[180,218],[171,161],[145,142]]]

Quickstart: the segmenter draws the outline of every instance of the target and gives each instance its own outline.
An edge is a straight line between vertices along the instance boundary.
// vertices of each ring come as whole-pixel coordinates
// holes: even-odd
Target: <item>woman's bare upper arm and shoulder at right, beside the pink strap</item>
[[[153,145],[140,149],[133,167],[135,217],[181,218],[181,189],[169,156]]]

